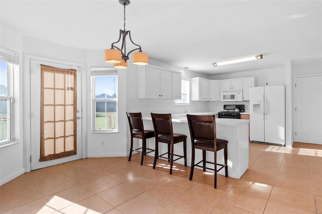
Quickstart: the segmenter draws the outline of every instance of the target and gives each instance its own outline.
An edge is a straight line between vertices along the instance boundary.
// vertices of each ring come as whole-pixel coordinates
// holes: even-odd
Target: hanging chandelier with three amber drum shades
[[[129,0],[119,0],[119,3],[124,7],[124,30],[120,30],[119,39],[116,42],[113,42],[111,49],[105,50],[105,62],[114,63],[114,68],[117,69],[126,69],[127,60],[129,59],[129,54],[133,52],[133,64],[136,65],[146,65],[148,64],[148,54],[142,52],[141,46],[135,44],[131,38],[131,32],[125,30],[125,6],[130,4]],[[130,41],[133,45],[136,46],[133,50],[126,53],[126,36],[129,36]],[[118,43],[122,37],[122,46],[118,48],[114,44]],[[138,51],[138,52],[134,52]]]

